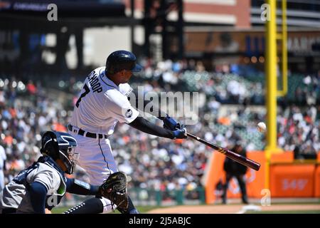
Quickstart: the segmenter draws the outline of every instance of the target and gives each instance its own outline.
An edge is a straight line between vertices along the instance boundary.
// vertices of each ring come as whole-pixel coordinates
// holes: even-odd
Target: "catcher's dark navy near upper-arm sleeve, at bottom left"
[[[33,182],[30,185],[30,201],[33,207],[33,211],[36,214],[46,214],[45,204],[47,192],[48,191],[46,186],[41,184],[41,182]]]

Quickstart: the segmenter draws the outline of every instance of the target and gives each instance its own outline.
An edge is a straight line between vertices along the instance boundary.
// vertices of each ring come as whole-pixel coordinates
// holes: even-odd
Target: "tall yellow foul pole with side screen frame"
[[[270,158],[277,147],[277,96],[287,94],[287,1],[282,0],[282,33],[277,34],[277,1],[266,0],[270,8],[266,23],[265,72],[267,79],[267,146],[265,148],[265,188],[270,189]],[[277,39],[282,40],[282,90],[277,91]]]

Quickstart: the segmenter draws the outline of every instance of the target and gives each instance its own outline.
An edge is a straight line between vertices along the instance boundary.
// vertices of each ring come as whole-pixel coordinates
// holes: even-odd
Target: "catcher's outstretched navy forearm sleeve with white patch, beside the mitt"
[[[99,186],[97,185],[90,185],[87,182],[67,178],[67,192],[76,195],[97,195],[98,191]]]

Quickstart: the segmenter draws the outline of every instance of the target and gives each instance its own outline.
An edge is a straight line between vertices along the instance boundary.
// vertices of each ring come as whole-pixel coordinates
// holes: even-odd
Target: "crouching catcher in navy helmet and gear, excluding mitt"
[[[0,193],[0,212],[45,213],[59,204],[65,192],[100,194],[100,186],[65,177],[72,174],[78,160],[77,142],[68,133],[48,131],[43,135],[37,162],[22,170]]]

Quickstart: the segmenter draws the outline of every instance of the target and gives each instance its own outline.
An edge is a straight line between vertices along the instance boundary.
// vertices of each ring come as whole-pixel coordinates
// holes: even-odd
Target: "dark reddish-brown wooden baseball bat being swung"
[[[194,140],[197,140],[198,142],[202,142],[204,145],[208,145],[208,147],[213,148],[214,150],[217,150],[218,152],[222,153],[223,155],[230,157],[230,159],[235,160],[236,162],[239,162],[242,165],[245,165],[247,167],[252,168],[253,170],[259,170],[260,164],[250,160],[249,158],[239,155],[236,152],[233,152],[231,150],[228,150],[226,148],[220,147],[218,145],[214,145],[213,143],[210,143],[206,140],[203,140],[202,138],[198,138],[196,135],[191,135],[190,133],[187,133],[188,137],[193,138]]]

